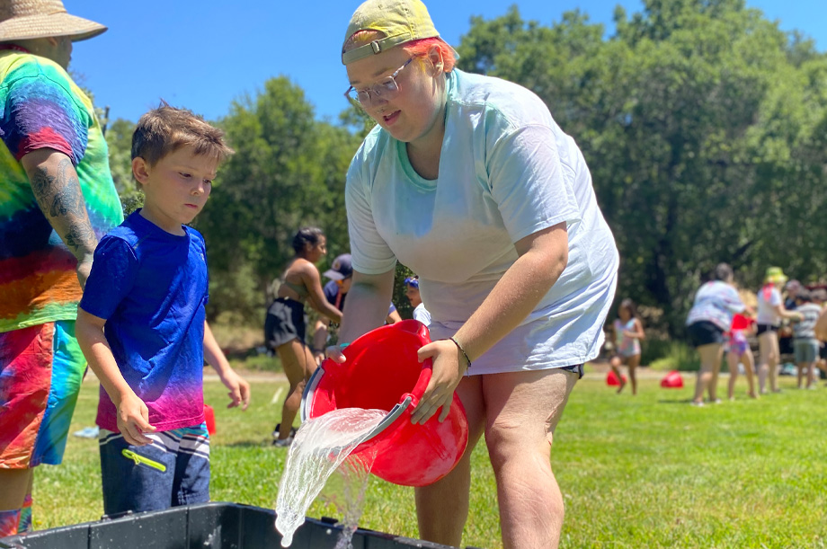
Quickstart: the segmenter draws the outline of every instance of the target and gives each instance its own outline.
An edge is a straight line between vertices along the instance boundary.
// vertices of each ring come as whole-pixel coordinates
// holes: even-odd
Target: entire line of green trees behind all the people
[[[580,12],[552,26],[517,7],[474,17],[458,67],[547,103],[591,168],[621,255],[618,297],[662,309],[652,322],[680,335],[719,261],[747,288],[769,265],[803,281],[827,271],[827,55],[743,0],[643,4],[630,16],[618,7],[608,38]],[[236,155],[196,220],[209,246],[208,313],[257,325],[299,226],[325,230],[328,262],[348,251],[344,176],[370,124],[352,108],[336,123],[316,120],[284,77],[236,100],[218,124]],[[133,126],[116,120],[107,133],[128,209],[139,202]],[[396,290],[406,305],[399,280]]]

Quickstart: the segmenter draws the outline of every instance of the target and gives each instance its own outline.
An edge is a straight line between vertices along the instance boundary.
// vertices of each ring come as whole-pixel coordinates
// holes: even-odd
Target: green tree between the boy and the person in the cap
[[[293,255],[301,226],[320,226],[331,257],[348,249],[344,174],[358,146],[341,127],[314,118],[285,77],[233,103],[221,125],[236,149],[196,221],[208,243],[208,314],[263,315],[266,288]]]

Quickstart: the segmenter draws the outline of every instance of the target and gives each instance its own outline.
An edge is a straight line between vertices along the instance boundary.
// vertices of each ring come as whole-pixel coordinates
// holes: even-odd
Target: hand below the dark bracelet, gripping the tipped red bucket
[[[441,423],[448,417],[454,390],[467,370],[467,360],[459,352],[457,345],[450,340],[428,343],[418,351],[417,355],[420,362],[426,359],[433,361],[433,374],[425,388],[425,393],[422,394],[422,399],[414,408],[411,422],[422,425],[430,420],[431,416],[441,407]]]

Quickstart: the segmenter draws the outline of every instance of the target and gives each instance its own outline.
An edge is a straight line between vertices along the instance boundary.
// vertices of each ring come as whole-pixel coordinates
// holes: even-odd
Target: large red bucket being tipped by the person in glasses
[[[353,454],[376,450],[370,472],[390,483],[425,486],[440,480],[465,451],[468,422],[454,394],[445,421],[436,413],[424,425],[411,423],[431,381],[431,360],[420,363],[416,351],[430,342],[428,329],[415,320],[361,336],[344,349],[347,362],[326,359],[316,369],[302,395],[301,420],[342,408],[384,410],[385,419]]]

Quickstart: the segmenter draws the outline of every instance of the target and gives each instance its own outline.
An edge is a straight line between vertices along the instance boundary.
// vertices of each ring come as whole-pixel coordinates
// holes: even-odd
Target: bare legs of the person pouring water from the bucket
[[[577,376],[563,370],[463,379],[458,394],[471,428],[466,455],[444,479],[416,489],[420,536],[459,546],[468,513],[470,454],[485,430],[505,549],[555,548],[563,497],[548,458],[552,432]]]

